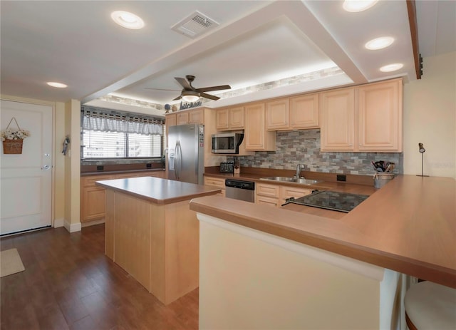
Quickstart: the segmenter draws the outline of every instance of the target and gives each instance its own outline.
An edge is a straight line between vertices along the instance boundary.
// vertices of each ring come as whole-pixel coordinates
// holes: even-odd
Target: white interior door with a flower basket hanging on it
[[[0,102],[1,130],[14,117],[31,133],[21,154],[4,154],[0,147],[0,234],[51,226],[52,107]],[[10,127],[16,128],[14,120]]]

